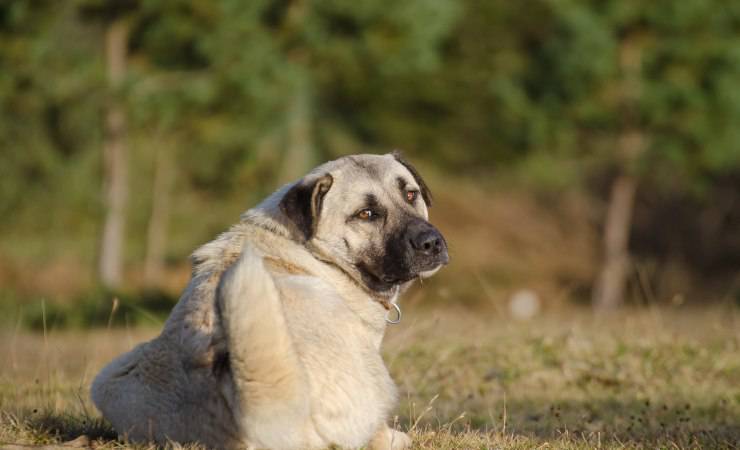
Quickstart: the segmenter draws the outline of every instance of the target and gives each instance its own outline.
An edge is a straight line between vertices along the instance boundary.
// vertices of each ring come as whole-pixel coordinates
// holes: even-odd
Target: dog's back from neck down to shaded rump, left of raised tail
[[[201,442],[239,446],[226,342],[215,307],[218,281],[239,255],[243,230],[231,230],[196,252],[193,278],[162,334],[109,363],[95,378],[92,400],[133,442]]]

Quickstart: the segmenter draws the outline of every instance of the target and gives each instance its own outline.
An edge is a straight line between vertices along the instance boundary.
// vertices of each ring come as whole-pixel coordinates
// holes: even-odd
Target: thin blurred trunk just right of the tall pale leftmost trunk
[[[173,175],[172,156],[167,145],[157,150],[154,183],[152,187],[152,211],[146,236],[146,259],[144,261],[144,283],[156,286],[164,271],[164,256],[167,248],[167,224],[170,217],[170,190]]]

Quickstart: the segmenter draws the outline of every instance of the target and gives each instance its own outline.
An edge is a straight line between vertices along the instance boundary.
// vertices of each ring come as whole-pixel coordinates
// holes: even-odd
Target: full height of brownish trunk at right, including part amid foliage
[[[642,42],[638,35],[628,36],[620,46],[622,72],[622,134],[617,143],[620,173],[612,182],[603,230],[603,262],[593,291],[597,312],[614,310],[624,302],[630,268],[629,236],[637,191],[637,179],[630,166],[645,149],[645,139],[635,117],[640,98]]]

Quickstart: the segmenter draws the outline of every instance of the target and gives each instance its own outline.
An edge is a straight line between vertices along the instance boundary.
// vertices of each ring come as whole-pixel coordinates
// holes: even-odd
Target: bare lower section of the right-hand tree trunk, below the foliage
[[[631,175],[619,175],[613,182],[604,224],[604,262],[594,290],[594,308],[608,311],[618,308],[624,298],[629,270],[629,231],[637,181]]]

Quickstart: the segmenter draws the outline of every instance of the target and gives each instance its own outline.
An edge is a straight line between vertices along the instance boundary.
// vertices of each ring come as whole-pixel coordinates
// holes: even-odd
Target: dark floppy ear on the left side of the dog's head
[[[332,183],[334,178],[328,173],[304,179],[293,185],[280,200],[280,210],[307,241],[316,232],[321,205]]]

